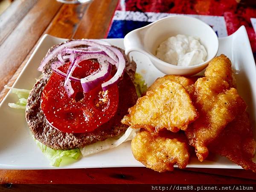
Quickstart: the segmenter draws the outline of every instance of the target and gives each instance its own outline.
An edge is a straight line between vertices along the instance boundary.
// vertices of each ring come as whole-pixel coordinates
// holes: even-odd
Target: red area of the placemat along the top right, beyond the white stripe
[[[256,52],[256,34],[250,18],[256,18],[256,8],[237,3],[236,0],[121,0],[117,10],[140,12],[166,12],[224,16],[227,33],[233,34],[244,25],[253,52]]]

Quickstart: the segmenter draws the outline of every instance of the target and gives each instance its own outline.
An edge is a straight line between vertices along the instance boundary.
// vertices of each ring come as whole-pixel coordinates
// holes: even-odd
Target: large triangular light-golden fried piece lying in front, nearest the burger
[[[145,128],[150,132],[163,128],[172,132],[186,130],[188,124],[198,116],[188,92],[172,81],[163,82],[147,91],[128,112],[121,121],[123,124],[135,129]]]

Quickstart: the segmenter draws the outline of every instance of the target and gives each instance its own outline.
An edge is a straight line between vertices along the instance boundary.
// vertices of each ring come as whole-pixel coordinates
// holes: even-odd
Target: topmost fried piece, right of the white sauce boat
[[[215,57],[213,60],[210,61],[204,75],[205,77],[219,76],[223,80],[227,81],[230,87],[236,88],[236,79],[231,65],[232,63],[230,59],[224,54],[221,54],[220,56]]]

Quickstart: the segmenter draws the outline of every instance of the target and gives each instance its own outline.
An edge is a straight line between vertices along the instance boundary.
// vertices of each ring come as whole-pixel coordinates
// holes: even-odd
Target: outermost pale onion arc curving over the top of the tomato
[[[96,43],[93,40],[73,40],[73,41],[69,41],[67,43],[62,44],[62,45],[56,47],[55,49],[53,49],[51,52],[49,52],[47,57],[44,57],[44,59],[42,60],[40,66],[38,67],[38,71],[43,71],[44,66],[53,57],[55,57],[58,53],[60,53],[62,51],[62,49],[68,48],[68,47],[80,46],[80,45],[93,46],[93,47],[95,47],[95,48],[97,48],[99,50],[104,51],[114,61],[118,61],[118,58],[116,57],[116,54],[111,49],[109,49],[107,46],[105,46],[105,45]]]

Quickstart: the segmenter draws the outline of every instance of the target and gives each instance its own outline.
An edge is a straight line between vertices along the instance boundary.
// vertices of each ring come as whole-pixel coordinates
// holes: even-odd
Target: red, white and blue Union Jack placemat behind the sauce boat
[[[203,20],[218,37],[233,34],[244,25],[256,58],[256,7],[236,0],[120,0],[107,37],[123,38],[134,29],[173,14]]]

